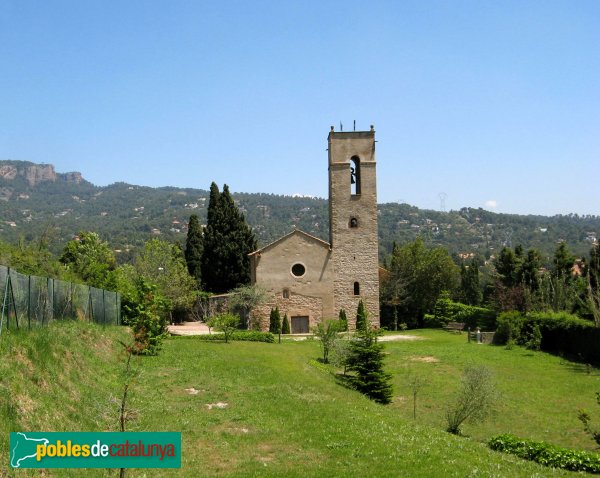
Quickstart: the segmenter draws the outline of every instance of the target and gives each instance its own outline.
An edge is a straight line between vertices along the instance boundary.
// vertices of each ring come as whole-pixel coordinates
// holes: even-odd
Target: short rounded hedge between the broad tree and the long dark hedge
[[[496,312],[483,307],[454,302],[448,297],[441,297],[435,303],[434,313],[425,314],[425,327],[438,328],[449,322],[462,322],[465,327],[475,330],[494,330],[496,328]]]

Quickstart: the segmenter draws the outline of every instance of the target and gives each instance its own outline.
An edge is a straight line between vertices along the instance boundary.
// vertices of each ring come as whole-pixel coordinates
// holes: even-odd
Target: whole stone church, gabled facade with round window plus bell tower
[[[271,308],[287,314],[292,333],[307,333],[321,319],[346,311],[355,326],[363,300],[379,326],[379,262],[375,130],[328,137],[329,242],[298,229],[250,254],[252,284],[269,300],[253,311],[268,329]]]

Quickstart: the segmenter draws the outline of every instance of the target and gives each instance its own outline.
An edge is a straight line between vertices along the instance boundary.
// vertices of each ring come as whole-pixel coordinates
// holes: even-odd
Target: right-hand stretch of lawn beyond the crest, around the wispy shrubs
[[[499,433],[556,445],[597,451],[582,431],[577,410],[587,408],[600,415],[595,392],[600,391],[600,370],[570,362],[544,352],[521,347],[467,343],[466,334],[437,330],[410,332],[425,340],[387,342],[387,364],[394,372],[398,396],[391,405],[412,419],[413,398],[409,373],[420,375],[425,386],[417,398],[417,422],[444,429],[445,405],[460,386],[467,364],[482,364],[494,374],[500,401],[491,419],[467,424],[464,433],[486,441]]]

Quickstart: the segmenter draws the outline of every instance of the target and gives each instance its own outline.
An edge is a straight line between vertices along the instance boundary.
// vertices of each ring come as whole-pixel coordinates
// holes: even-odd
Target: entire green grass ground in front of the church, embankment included
[[[2,375],[0,397],[18,397],[0,407],[2,477],[8,476],[3,468],[8,430],[117,429],[114,399],[123,383],[123,358],[116,340],[123,329],[74,324],[57,330],[59,338],[46,344],[34,336],[0,340],[0,371],[9,374]],[[129,405],[136,417],[128,429],[181,431],[183,466],[130,470],[127,476],[568,476],[492,452],[481,441],[512,432],[593,449],[579,430],[576,410],[585,406],[597,413],[598,370],[587,374],[546,354],[467,344],[464,335],[415,334],[424,340],[386,343],[396,392],[389,406],[341,387],[314,366],[320,356],[316,341],[168,339],[159,356],[134,361],[138,375]],[[494,370],[503,400],[489,423],[465,427],[470,438],[454,437],[443,431],[444,406],[469,362]],[[427,380],[417,420],[409,370]],[[219,403],[226,405],[214,406]],[[116,476],[116,471],[23,470],[10,476]]]

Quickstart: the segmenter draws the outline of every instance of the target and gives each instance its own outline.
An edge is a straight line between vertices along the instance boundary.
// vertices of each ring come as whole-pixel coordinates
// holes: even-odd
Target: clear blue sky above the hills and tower
[[[600,214],[600,2],[0,2],[0,159],[326,197],[354,120],[379,202]]]

